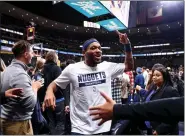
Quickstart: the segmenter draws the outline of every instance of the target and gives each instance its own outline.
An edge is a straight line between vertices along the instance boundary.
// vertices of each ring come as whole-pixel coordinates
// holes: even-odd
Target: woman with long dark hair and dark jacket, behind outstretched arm
[[[145,101],[153,101],[157,99],[178,97],[179,94],[176,89],[173,88],[173,83],[170,78],[168,70],[163,65],[155,65],[153,69],[153,86],[149,91],[142,89],[140,86],[136,86],[136,90],[139,91],[141,96],[144,96]],[[147,129],[153,134],[178,134],[178,123],[164,124],[162,122],[149,122],[145,121]],[[148,133],[150,134],[150,132]]]

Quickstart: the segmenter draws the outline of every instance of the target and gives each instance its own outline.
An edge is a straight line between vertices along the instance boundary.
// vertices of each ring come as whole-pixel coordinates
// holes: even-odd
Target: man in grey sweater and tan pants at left
[[[36,104],[40,81],[32,82],[27,74],[27,64],[31,63],[31,44],[21,40],[12,48],[15,59],[2,73],[2,92],[11,88],[23,88],[22,97],[8,98],[1,105],[1,132],[3,135],[33,134],[31,115]]]

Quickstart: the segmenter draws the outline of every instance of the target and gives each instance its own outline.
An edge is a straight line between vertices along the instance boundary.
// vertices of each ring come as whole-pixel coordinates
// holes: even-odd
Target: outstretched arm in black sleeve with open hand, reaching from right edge
[[[146,103],[116,104],[106,94],[101,92],[106,99],[102,105],[90,107],[93,120],[101,119],[99,125],[115,119],[151,120],[164,123],[184,121],[184,97],[166,98]]]

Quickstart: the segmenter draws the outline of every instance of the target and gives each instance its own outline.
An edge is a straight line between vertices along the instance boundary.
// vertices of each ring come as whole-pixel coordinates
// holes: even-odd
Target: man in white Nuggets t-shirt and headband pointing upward
[[[120,43],[125,48],[125,63],[101,62],[101,45],[96,39],[89,39],[83,44],[84,61],[70,64],[53,81],[47,91],[43,103],[46,107],[55,108],[54,92],[59,86],[65,89],[70,83],[70,118],[72,134],[108,134],[111,121],[98,126],[101,121],[92,121],[89,116],[89,107],[103,104],[105,101],[100,91],[108,96],[111,94],[111,78],[133,69],[133,57],[129,39],[126,34],[119,33]]]

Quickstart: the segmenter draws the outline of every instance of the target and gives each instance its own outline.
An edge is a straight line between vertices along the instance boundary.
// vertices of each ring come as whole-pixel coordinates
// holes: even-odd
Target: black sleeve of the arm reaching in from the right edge
[[[130,105],[116,104],[113,108],[113,116],[116,119],[140,119],[167,123],[170,121],[183,121],[184,97],[166,98]]]

